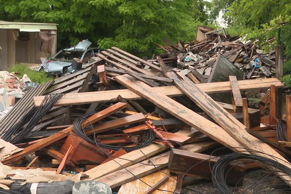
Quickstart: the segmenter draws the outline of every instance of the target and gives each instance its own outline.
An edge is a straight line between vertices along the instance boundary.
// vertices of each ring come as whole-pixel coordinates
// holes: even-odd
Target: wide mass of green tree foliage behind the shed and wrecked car
[[[100,48],[131,52],[155,48],[164,37],[194,39],[207,23],[203,0],[0,0],[0,19],[51,22],[58,26],[58,45],[89,39]]]

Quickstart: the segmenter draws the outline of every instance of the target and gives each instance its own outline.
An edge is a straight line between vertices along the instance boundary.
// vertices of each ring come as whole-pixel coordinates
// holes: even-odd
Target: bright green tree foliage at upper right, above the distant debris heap
[[[275,37],[275,46],[278,43],[278,30],[281,29],[285,56],[291,58],[290,0],[213,0],[213,3],[211,13],[217,13],[217,7],[224,11],[228,23],[226,31],[232,35],[259,39],[259,44]],[[285,73],[291,73],[291,61],[286,63],[284,69]]]

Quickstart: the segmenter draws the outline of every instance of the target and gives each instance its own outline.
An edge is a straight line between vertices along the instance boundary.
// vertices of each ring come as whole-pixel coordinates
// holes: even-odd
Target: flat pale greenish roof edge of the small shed
[[[0,29],[39,29],[39,30],[57,30],[54,23],[33,23],[33,22],[11,22],[1,21]]]

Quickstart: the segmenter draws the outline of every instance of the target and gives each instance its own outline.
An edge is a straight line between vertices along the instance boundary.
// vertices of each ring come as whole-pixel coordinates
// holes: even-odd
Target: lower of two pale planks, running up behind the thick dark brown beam
[[[206,144],[205,143],[200,143],[200,144],[196,143],[196,144],[191,144],[191,145],[185,145],[183,147],[185,150],[190,150],[192,152],[201,152],[201,150],[205,150],[205,148],[209,147],[209,146],[211,146],[211,145],[209,145],[207,143]],[[170,155],[170,152],[166,152],[166,153],[160,154],[158,156],[155,156],[153,158],[150,158],[150,161],[153,164],[155,164],[155,166],[147,165],[148,160],[145,160],[142,162],[144,164],[141,164],[141,163],[133,164],[133,165],[127,167],[127,170],[137,177],[146,176],[152,172],[157,171],[157,168],[162,169],[162,168],[166,167],[167,162],[169,160],[169,155]],[[97,178],[96,180],[109,185],[111,188],[115,188],[115,187],[118,187],[120,185],[123,185],[129,181],[136,179],[136,177],[133,176],[131,173],[129,173],[127,170],[121,169],[121,170],[113,172],[109,175]]]

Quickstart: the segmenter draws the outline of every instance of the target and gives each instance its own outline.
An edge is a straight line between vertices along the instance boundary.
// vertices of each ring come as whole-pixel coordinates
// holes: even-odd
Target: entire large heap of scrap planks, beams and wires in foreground
[[[209,43],[228,38],[209,34]],[[187,57],[189,47],[194,54],[191,44],[177,56]],[[209,179],[222,194],[289,191],[289,96],[287,125],[276,116],[276,89],[284,85],[276,78],[240,80],[242,70],[223,54],[214,63],[224,70],[213,68],[212,81],[185,60],[173,66],[182,58],[171,57],[146,61],[113,47],[87,68],[27,92],[0,122],[0,187],[60,194],[65,186],[69,194],[74,182],[95,180],[118,194],[179,194]],[[260,102],[267,114],[249,108],[241,94],[268,88]],[[254,170],[263,181],[244,187]]]

